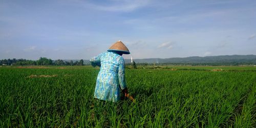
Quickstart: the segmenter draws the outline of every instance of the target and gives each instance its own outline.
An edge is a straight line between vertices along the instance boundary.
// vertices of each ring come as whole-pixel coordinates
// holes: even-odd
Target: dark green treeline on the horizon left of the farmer
[[[83,66],[83,60],[73,62],[65,61],[62,59],[52,60],[46,57],[40,57],[38,60],[27,60],[27,59],[2,59],[0,65],[6,66]]]

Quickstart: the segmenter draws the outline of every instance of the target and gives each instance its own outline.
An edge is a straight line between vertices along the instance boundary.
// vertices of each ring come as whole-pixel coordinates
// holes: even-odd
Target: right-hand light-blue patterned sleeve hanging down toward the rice
[[[118,79],[121,90],[126,88],[126,82],[124,78],[124,59],[121,57],[119,59],[119,68],[118,68]]]

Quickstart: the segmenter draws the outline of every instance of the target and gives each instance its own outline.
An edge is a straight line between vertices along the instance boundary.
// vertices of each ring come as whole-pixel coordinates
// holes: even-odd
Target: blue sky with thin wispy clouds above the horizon
[[[256,54],[256,1],[0,1],[0,59]],[[130,58],[131,55],[124,55]]]

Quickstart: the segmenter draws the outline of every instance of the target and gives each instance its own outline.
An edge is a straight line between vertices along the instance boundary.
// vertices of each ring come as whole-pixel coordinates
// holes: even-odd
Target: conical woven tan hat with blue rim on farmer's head
[[[123,54],[130,54],[130,51],[129,49],[127,49],[127,47],[123,44],[122,41],[117,41],[115,42],[115,44],[113,44],[109,50],[110,51],[119,51],[119,52],[122,52]]]

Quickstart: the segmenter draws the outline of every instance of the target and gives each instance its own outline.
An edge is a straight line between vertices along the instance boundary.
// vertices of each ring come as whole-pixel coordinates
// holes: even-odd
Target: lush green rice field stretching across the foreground
[[[0,126],[256,126],[256,67],[172,69],[126,69],[136,102],[112,103],[93,98],[99,68],[0,67]]]

